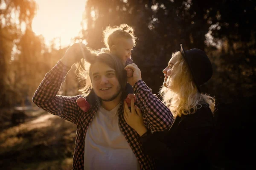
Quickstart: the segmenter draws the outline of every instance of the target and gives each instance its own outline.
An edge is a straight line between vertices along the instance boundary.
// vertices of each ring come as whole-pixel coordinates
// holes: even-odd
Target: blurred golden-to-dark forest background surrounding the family
[[[213,76],[202,91],[216,99],[212,170],[251,169],[255,17],[255,0],[0,0],[0,169],[71,169],[76,126],[37,108],[32,96],[69,45],[102,48],[104,28],[121,23],[134,28],[132,59],[158,96],[180,43],[208,54]],[[72,68],[59,94],[79,87]]]

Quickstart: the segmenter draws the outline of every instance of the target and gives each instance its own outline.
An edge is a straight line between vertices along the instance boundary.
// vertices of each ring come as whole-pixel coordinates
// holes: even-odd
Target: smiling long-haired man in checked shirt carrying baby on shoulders
[[[57,95],[71,66],[82,57],[90,63],[85,75],[89,76],[93,91],[88,94],[96,96],[86,111],[76,102],[82,95]],[[136,75],[133,88],[137,104],[147,105],[142,109],[145,125],[153,131],[167,129],[172,124],[172,114]],[[111,54],[96,55],[84,44],[76,43],[46,74],[35,92],[32,101],[38,107],[77,125],[73,170],[154,169],[154,161],[143,153],[138,134],[124,120],[125,77],[120,59]],[[152,101],[144,101],[143,95],[151,96]]]

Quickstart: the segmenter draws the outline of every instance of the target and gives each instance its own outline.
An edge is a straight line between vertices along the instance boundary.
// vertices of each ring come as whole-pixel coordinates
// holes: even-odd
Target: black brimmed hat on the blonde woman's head
[[[212,77],[212,64],[208,56],[197,48],[185,51],[182,44],[180,44],[180,52],[189,65],[195,85],[201,93],[200,86]]]

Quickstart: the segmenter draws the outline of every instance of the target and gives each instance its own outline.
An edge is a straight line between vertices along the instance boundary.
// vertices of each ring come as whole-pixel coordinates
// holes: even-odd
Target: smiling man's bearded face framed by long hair
[[[93,90],[103,101],[112,101],[121,93],[121,85],[113,68],[96,62],[91,66],[91,75]]]

